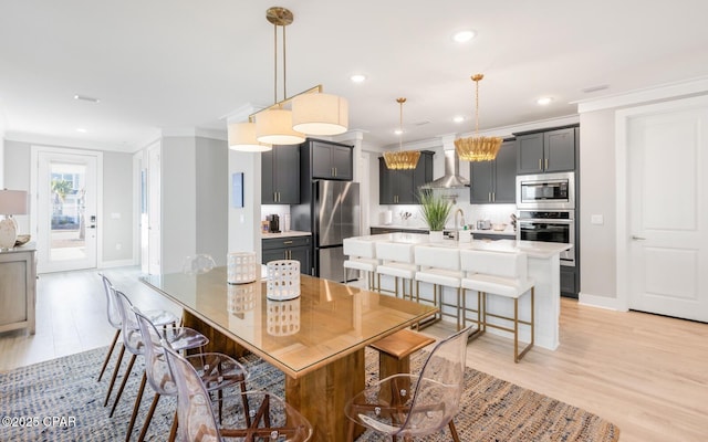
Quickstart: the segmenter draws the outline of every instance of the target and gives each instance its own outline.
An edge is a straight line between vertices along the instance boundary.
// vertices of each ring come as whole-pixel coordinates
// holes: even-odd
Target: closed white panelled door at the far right
[[[629,118],[627,165],[629,308],[708,322],[708,106]]]

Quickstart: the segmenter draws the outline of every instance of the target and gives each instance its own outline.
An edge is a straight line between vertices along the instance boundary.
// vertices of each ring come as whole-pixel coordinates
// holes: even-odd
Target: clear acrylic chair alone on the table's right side
[[[436,433],[446,425],[459,442],[454,418],[465,385],[465,359],[470,327],[438,343],[419,375],[393,375],[352,398],[344,408],[350,419],[348,441],[354,425],[389,435],[395,442]]]

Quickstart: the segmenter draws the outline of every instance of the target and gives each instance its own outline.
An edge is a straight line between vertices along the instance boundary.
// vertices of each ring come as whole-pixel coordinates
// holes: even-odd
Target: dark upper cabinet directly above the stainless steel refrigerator
[[[332,179],[351,181],[354,179],[353,147],[339,143],[308,138],[302,145],[302,152],[309,159],[312,179]],[[303,161],[304,162],[304,161]]]

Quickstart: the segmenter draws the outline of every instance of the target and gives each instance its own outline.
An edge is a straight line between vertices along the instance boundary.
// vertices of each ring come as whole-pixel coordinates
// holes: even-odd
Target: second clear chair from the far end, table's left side
[[[137,324],[137,318],[133,313],[133,304],[131,303],[131,299],[128,299],[128,297],[121,291],[116,290],[114,291],[114,294],[115,304],[118,307],[118,312],[121,313],[121,333],[123,334],[123,347],[126,348],[132,355],[131,360],[128,361],[128,366],[125,370],[125,375],[123,377],[123,382],[121,382],[121,387],[118,388],[115,400],[113,402],[113,408],[111,409],[110,413],[111,418],[113,418],[113,413],[115,412],[118,401],[121,400],[121,396],[123,394],[125,385],[131,377],[131,371],[133,371],[133,365],[135,364],[136,357],[138,355],[143,356],[145,354],[145,343],[143,341],[143,336],[139,325]],[[187,327],[167,328],[164,329],[160,334],[162,337],[165,338],[173,346],[173,348],[177,350],[201,348],[209,343],[209,339],[206,336]],[[131,420],[128,422],[128,430],[125,436],[126,442],[131,439],[133,425],[135,425],[135,418],[137,417],[140,399],[143,399],[143,392],[145,391],[146,381],[147,373],[143,371],[143,379],[140,380],[140,386],[138,387],[137,397],[133,407],[133,414],[131,415]]]

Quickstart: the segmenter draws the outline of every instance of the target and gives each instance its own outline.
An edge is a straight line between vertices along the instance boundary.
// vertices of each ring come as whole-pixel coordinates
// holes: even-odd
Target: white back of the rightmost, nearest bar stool
[[[523,252],[460,250],[460,265],[468,275],[481,273],[525,282],[528,256]]]

